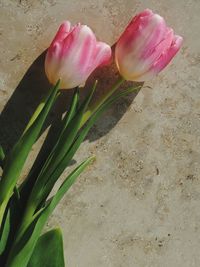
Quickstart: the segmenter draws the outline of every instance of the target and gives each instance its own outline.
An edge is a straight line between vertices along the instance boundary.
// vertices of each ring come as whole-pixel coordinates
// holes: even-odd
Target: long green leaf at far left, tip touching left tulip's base
[[[6,205],[13,193],[13,189],[20,176],[26,158],[31,150],[32,145],[40,134],[44,121],[54,103],[58,91],[58,86],[59,81],[56,86],[52,88],[51,94],[47,99],[47,102],[45,103],[42,111],[37,116],[36,120],[22,135],[17,144],[5,158],[4,171],[0,180],[0,224]]]

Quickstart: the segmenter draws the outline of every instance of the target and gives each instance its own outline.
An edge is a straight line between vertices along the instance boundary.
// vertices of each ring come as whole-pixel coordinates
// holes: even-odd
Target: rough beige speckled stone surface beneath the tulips
[[[29,88],[17,86],[58,25],[65,19],[80,21],[113,44],[146,7],[166,18],[184,37],[184,47],[134,101],[115,105],[76,155],[77,162],[91,154],[97,159],[48,224],[63,229],[68,267],[200,266],[200,1],[0,0],[1,142],[6,150],[32,112],[38,86],[48,84],[37,78],[36,65],[33,99]]]

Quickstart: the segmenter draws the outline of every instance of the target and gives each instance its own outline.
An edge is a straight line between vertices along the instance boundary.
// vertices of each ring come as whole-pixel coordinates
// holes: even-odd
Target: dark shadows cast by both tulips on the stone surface
[[[0,144],[3,146],[5,152],[8,152],[16,143],[37,105],[49,90],[50,84],[44,73],[45,53],[46,51],[30,66],[0,115]],[[96,79],[99,83],[94,99],[98,98],[118,79],[118,72],[114,64],[112,67],[98,68],[91,75],[86,83],[85,89],[82,91],[82,97],[89,92]],[[133,83],[126,82],[121,90],[130,85],[133,85]],[[51,128],[44,144],[45,150],[51,149],[51,144],[53,143],[51,140],[56,138],[62,114],[67,110],[72,94],[73,90],[62,90],[55,107],[48,117],[43,131],[50,125]],[[98,120],[87,136],[87,139],[92,142],[107,134],[121,119],[135,97],[136,94],[132,93],[114,104]]]

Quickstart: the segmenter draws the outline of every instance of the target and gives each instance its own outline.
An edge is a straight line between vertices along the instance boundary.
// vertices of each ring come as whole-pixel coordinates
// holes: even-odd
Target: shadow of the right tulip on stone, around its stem
[[[86,84],[86,89],[89,91],[95,80],[98,80],[97,90],[93,98],[94,101],[96,101],[105,94],[119,78],[119,72],[113,62],[111,66],[99,67],[96,71],[94,71]],[[118,91],[123,91],[129,87],[142,86],[143,83],[124,82]],[[139,90],[136,90],[128,96],[121,97],[116,103],[114,103],[109,110],[107,110],[104,115],[98,119],[94,127],[89,132],[87,139],[92,142],[109,133],[129,109],[138,92]]]

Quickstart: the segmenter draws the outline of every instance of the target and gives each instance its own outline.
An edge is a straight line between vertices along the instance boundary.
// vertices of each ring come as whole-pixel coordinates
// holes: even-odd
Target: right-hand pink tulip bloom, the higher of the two
[[[146,9],[133,18],[116,44],[119,72],[126,80],[148,80],[169,64],[182,42],[161,16]]]

